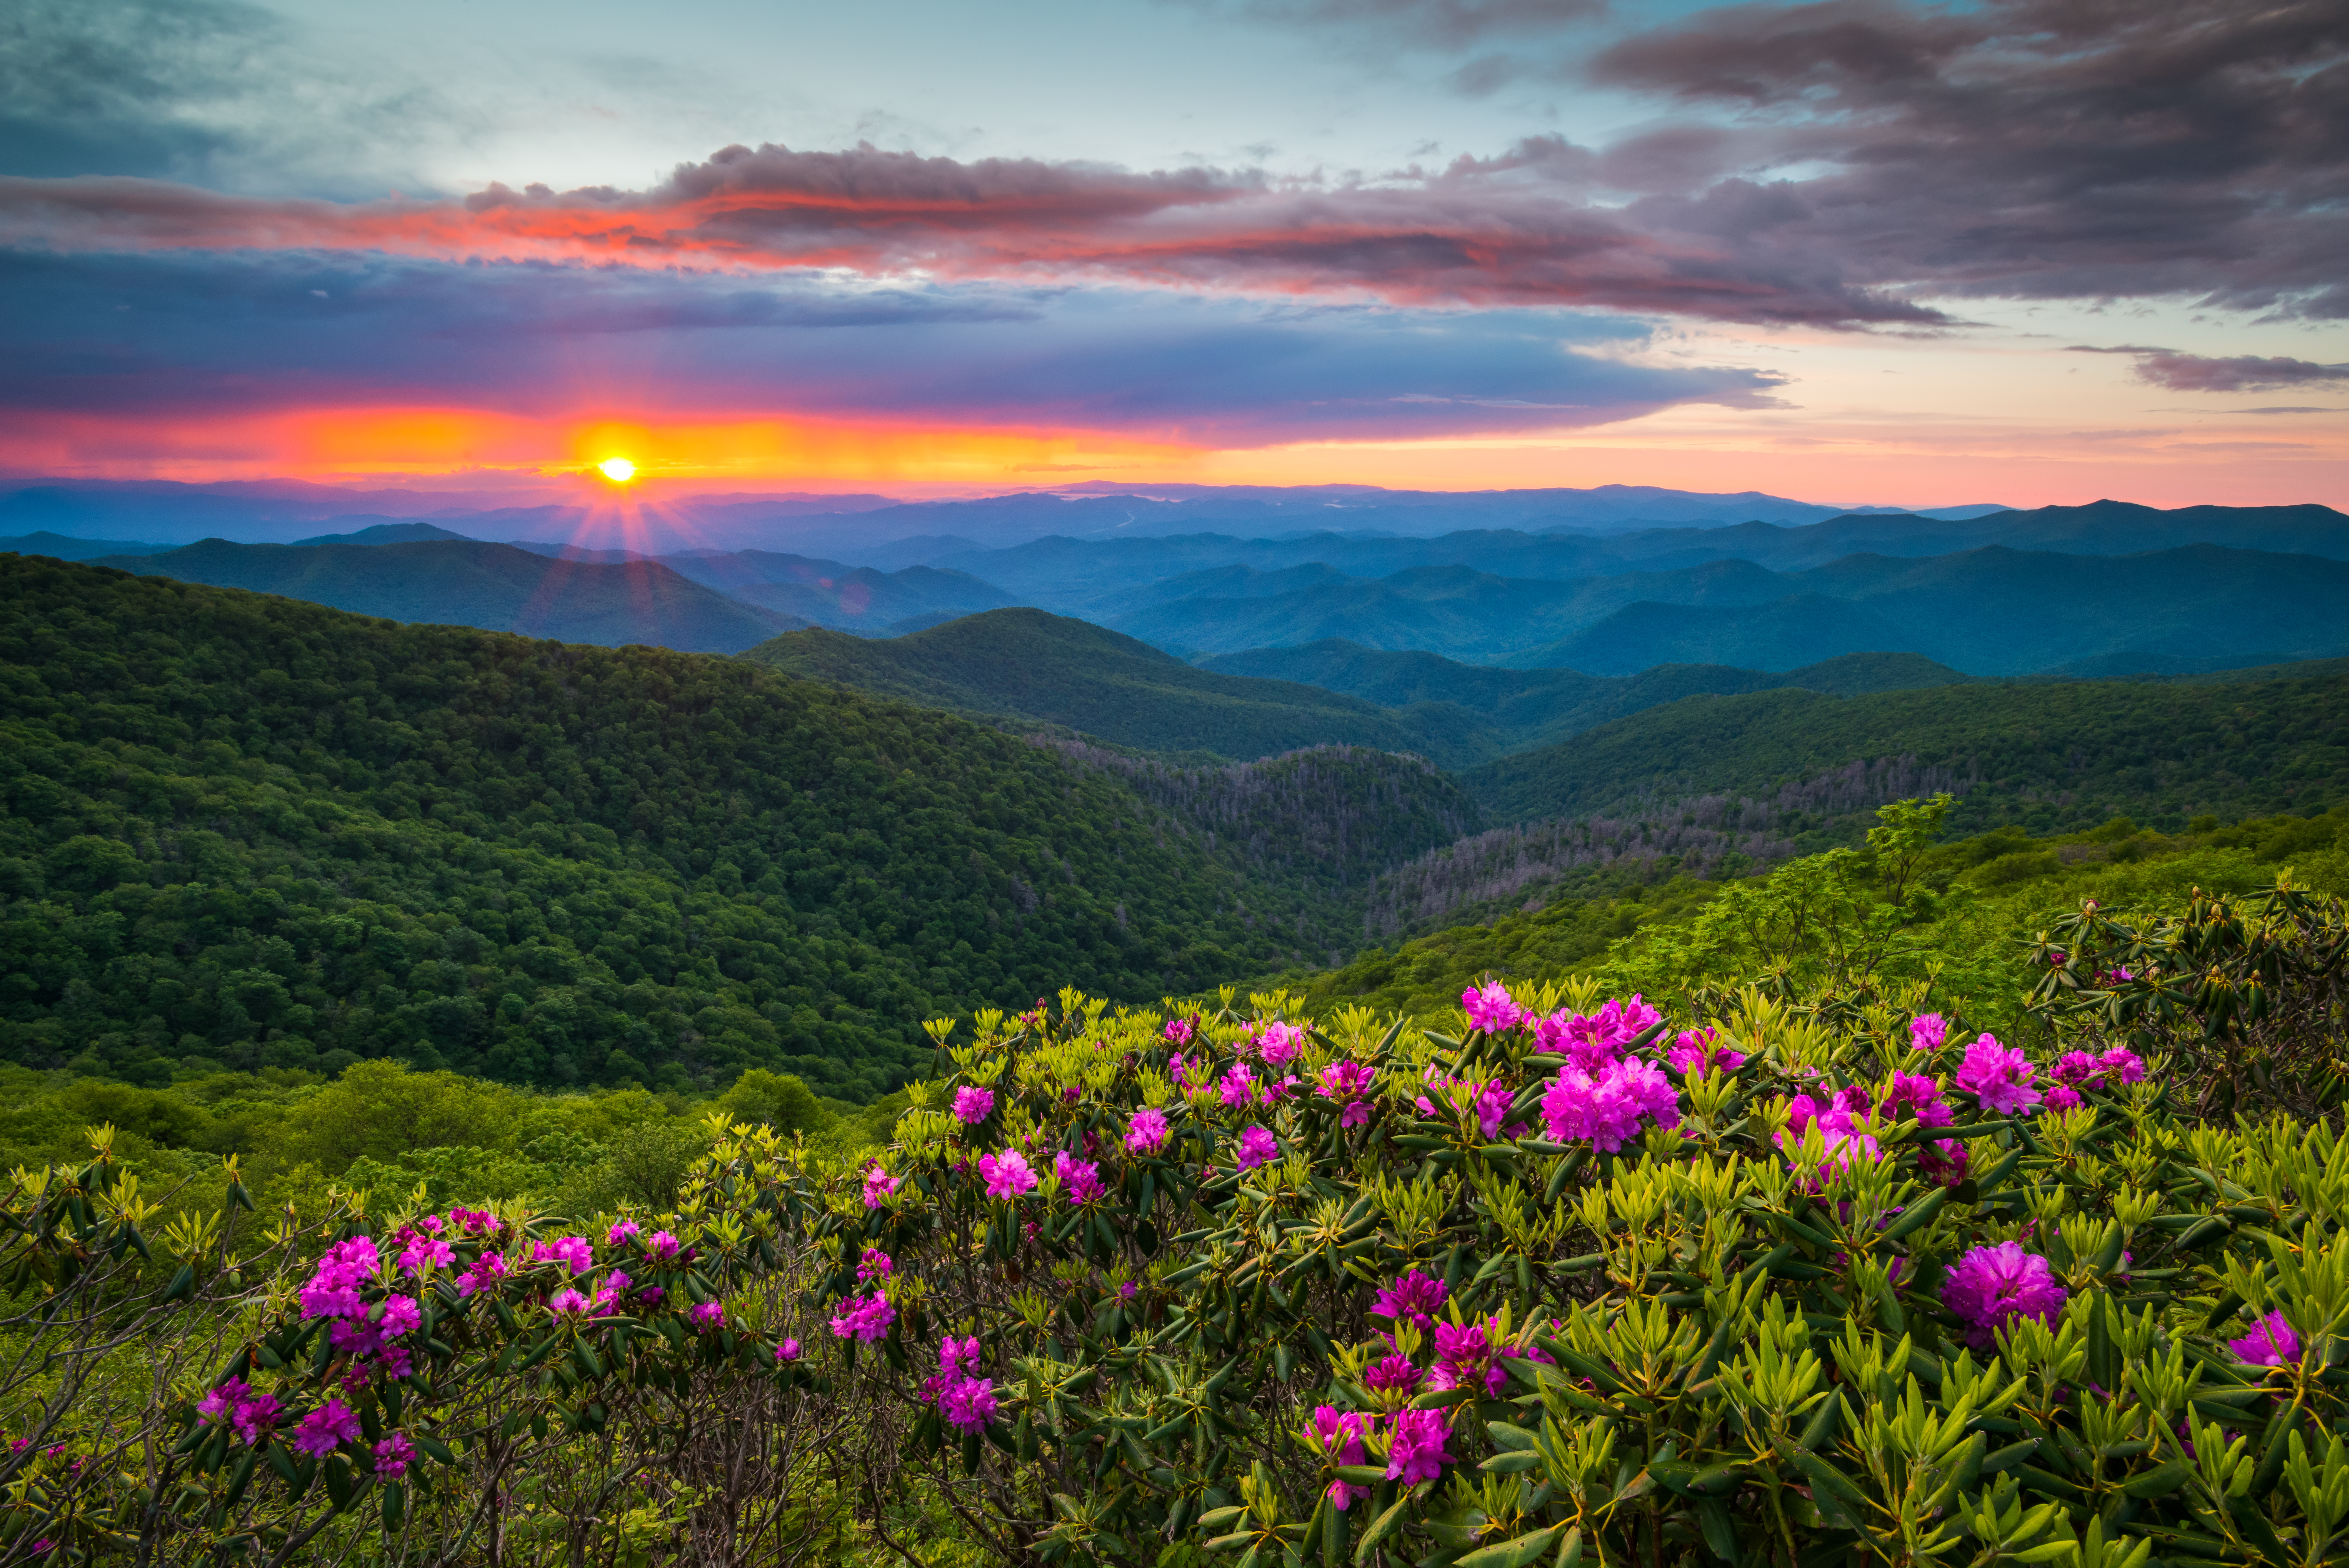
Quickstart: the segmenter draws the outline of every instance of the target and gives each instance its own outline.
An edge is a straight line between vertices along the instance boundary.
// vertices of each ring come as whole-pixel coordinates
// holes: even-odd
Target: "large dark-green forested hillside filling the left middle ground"
[[[1259,829],[1308,838],[1299,812],[1414,786],[1325,772]],[[1461,829],[1395,822],[1388,859]],[[1210,826],[1116,770],[740,660],[0,556],[0,1056],[26,1066],[763,1066],[864,1096],[935,1012],[1353,946],[1344,899],[1247,876]]]

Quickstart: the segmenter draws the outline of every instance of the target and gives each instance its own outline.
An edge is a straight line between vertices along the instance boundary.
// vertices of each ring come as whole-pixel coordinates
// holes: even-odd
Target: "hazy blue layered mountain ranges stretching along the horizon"
[[[1137,646],[1205,662],[1346,643],[1586,678],[1658,667],[1738,671],[1708,678],[1705,690],[1755,690],[1846,655],[1900,653],[1952,676],[2011,678],[2185,674],[2349,653],[2349,516],[2316,505],[1837,514],[1769,495],[1626,486],[850,498],[832,512],[803,495],[702,498],[688,507],[695,519],[738,530],[756,521],[761,538],[801,547],[655,554],[648,540],[674,530],[677,519],[634,528],[620,545],[583,530],[576,507],[305,521],[343,495],[319,486],[265,495],[223,486],[33,486],[0,495],[0,519],[52,516],[78,530],[110,523],[103,549],[99,538],[54,530],[0,538],[0,549],[96,559],[406,622],[693,653],[742,653],[801,627],[904,636],[1015,606],[1132,638],[1102,643],[1102,657],[1116,648],[1113,662],[1132,662]],[[153,540],[190,519],[221,521],[235,507],[249,509],[254,528],[291,530],[303,521],[310,530],[284,545],[207,538],[164,547],[134,542],[141,535],[124,526],[155,523],[143,535]],[[1672,523],[1651,526],[1663,514]],[[1480,526],[1445,528],[1461,519]],[[493,526],[568,535],[472,538]],[[806,547],[810,538],[832,538],[841,549],[817,554]],[[963,641],[972,638],[994,648],[1001,634]],[[921,648],[935,653],[940,643]],[[916,669],[918,653],[904,653],[914,664],[846,646],[792,657],[857,667],[871,681],[944,681],[940,690],[961,692],[949,704],[970,711],[1003,707],[1010,688]],[[1066,653],[1055,650],[1048,664]],[[1243,678],[1236,667],[1219,674]],[[1250,667],[1245,678],[1259,671]],[[1146,683],[1165,688],[1167,678],[1160,669]],[[1099,735],[1118,728],[1085,721],[1073,697],[1048,699],[1041,676],[1027,678],[1022,692],[1008,711]],[[1297,695],[1268,702],[1294,709]],[[1381,746],[1400,735],[1428,756],[1470,758],[1525,744],[1555,718],[1496,725],[1463,707],[1421,714],[1400,732],[1393,723],[1327,709],[1308,728]],[[1179,739],[1163,723],[1156,739],[1125,744],[1221,751],[1240,737],[1294,728],[1283,718],[1217,728],[1221,739]]]

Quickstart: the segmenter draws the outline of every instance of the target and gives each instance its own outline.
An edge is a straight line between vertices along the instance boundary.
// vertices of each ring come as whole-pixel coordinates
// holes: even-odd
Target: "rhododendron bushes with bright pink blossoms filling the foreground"
[[[2109,1014],[2025,1047],[1907,1002],[937,1021],[846,1169],[728,1127],[669,1216],[341,1223],[242,1284],[195,1249],[216,1354],[146,1427],[26,1430],[0,1530],[923,1563],[918,1507],[1120,1568],[2349,1552],[2335,1129],[2192,1120]],[[16,1195],[16,1258],[122,1251],[92,1171]]]

